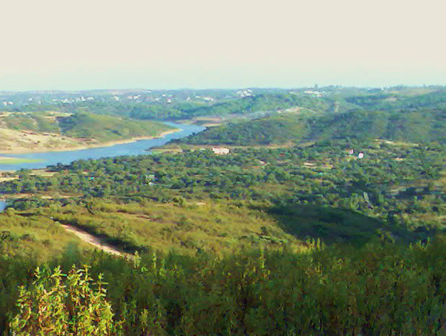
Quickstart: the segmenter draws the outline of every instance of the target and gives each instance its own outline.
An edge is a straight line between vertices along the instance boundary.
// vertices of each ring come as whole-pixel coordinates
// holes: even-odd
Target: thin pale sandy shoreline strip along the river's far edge
[[[169,135],[175,132],[181,132],[181,128],[174,128],[173,130],[167,130],[164,132],[161,132],[159,135],[151,135],[151,136],[142,136],[142,137],[131,137],[129,139],[123,139],[123,140],[113,140],[108,142],[101,142],[101,143],[95,143],[91,145],[78,145],[73,147],[59,147],[59,148],[38,148],[35,150],[32,149],[10,149],[10,150],[1,150],[0,149],[0,155],[3,154],[32,154],[32,153],[42,153],[42,152],[71,152],[75,150],[82,150],[82,149],[90,149],[90,148],[100,148],[100,147],[110,147],[115,145],[123,145],[128,144],[130,142],[136,142],[139,140],[152,140],[157,139],[160,137],[165,137],[165,135]]]

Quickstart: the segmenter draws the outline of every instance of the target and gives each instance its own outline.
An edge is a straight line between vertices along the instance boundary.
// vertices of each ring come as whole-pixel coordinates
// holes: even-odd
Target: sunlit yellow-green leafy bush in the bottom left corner
[[[86,266],[73,266],[68,275],[57,267],[53,273],[37,268],[35,276],[33,288],[19,288],[12,335],[115,335],[118,324],[113,324],[112,308],[105,300],[102,275],[93,284]]]

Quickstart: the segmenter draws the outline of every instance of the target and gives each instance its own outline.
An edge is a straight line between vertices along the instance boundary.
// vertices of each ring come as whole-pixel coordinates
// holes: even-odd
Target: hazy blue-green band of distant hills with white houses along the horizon
[[[325,112],[401,111],[445,107],[442,86],[393,88],[251,88],[226,90],[83,90],[0,92],[7,112],[91,112],[136,119],[188,119],[209,115],[255,115],[301,107]],[[259,117],[260,115],[255,115]]]

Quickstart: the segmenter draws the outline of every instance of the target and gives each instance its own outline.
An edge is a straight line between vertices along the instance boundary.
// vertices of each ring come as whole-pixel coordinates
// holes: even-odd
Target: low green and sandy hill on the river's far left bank
[[[0,152],[41,152],[97,147],[134,137],[155,137],[172,127],[90,113],[0,113]]]

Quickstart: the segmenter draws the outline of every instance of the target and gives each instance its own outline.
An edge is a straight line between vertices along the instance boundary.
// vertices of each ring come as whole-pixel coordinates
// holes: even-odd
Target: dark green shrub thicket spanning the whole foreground
[[[100,330],[95,335],[129,336],[442,335],[445,258],[442,237],[412,246],[375,241],[361,248],[325,247],[316,242],[311,253],[241,251],[224,258],[147,253],[133,261],[104,254],[85,258],[71,247],[48,261],[39,271],[40,280],[32,283],[36,261],[1,256],[0,333],[32,335],[36,327],[78,326],[77,335],[88,335],[86,330],[93,328]],[[60,273],[68,274],[73,264],[90,266],[90,280],[79,283],[83,287],[96,290],[94,281],[103,274],[103,299],[93,303],[88,290],[83,298],[75,294],[61,302],[39,296],[29,303],[17,301],[18,285],[25,285],[30,298],[38,293],[62,295],[62,290],[53,291],[58,285],[53,280],[61,279],[60,285],[68,280],[45,269],[60,265]],[[82,325],[87,320],[82,308],[91,305],[89,316],[95,316],[93,309],[104,305],[103,300],[113,314],[104,315],[107,325]],[[38,307],[43,316],[49,305],[61,310],[46,319],[33,318]],[[66,312],[66,320],[51,320],[61,312]],[[26,316],[28,323],[10,325]]]

